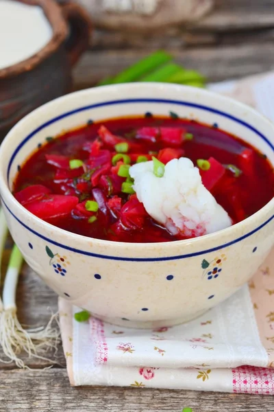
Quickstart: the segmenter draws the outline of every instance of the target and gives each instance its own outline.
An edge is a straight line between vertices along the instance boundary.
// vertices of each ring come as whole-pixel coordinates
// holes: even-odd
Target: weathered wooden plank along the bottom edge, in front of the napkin
[[[71,388],[64,369],[0,371],[1,412],[262,412],[274,397],[110,387]]]

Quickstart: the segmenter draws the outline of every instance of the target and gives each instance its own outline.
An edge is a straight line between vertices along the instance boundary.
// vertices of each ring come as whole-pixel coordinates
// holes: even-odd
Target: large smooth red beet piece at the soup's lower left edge
[[[69,215],[77,203],[76,196],[48,194],[39,201],[25,205],[25,208],[38,218],[45,220]]]

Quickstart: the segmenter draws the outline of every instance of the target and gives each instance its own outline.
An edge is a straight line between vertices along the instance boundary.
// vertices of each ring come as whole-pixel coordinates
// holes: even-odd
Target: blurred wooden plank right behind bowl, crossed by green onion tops
[[[152,50],[87,52],[74,70],[75,88],[91,87],[104,76],[112,76]],[[273,68],[273,43],[169,49],[184,67],[197,69],[210,82],[240,78]]]

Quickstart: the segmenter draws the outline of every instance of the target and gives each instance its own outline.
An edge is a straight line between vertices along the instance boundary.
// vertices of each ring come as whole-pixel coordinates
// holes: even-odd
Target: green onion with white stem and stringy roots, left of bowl
[[[3,209],[0,209],[0,268],[8,235],[8,227],[5,222]],[[59,341],[59,328],[53,328],[56,314],[51,316],[47,326],[25,330],[17,318],[16,286],[23,264],[23,256],[14,244],[8,270],[3,284],[3,300],[0,297],[0,345],[7,360],[0,359],[3,363],[14,361],[17,367],[27,367],[18,354],[26,352],[29,358],[35,357],[45,361],[49,359],[42,356],[49,348],[56,350]],[[1,273],[0,273],[1,275]],[[1,278],[1,277],[0,277]]]

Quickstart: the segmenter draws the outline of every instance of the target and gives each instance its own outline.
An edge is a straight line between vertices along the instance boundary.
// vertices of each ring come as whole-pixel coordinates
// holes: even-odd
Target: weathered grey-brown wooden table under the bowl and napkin
[[[92,47],[74,70],[75,89],[90,87],[159,47],[177,62],[199,69],[210,81],[240,78],[274,68],[274,1],[217,0],[216,9],[195,26],[151,35],[97,31]],[[4,253],[3,272],[12,241]],[[23,266],[17,293],[22,323],[46,324],[57,296]],[[274,397],[157,389],[71,388],[62,346],[51,363],[25,359],[32,370],[0,362],[0,411],[39,412],[255,412],[274,411]],[[1,352],[0,352],[1,358]]]

